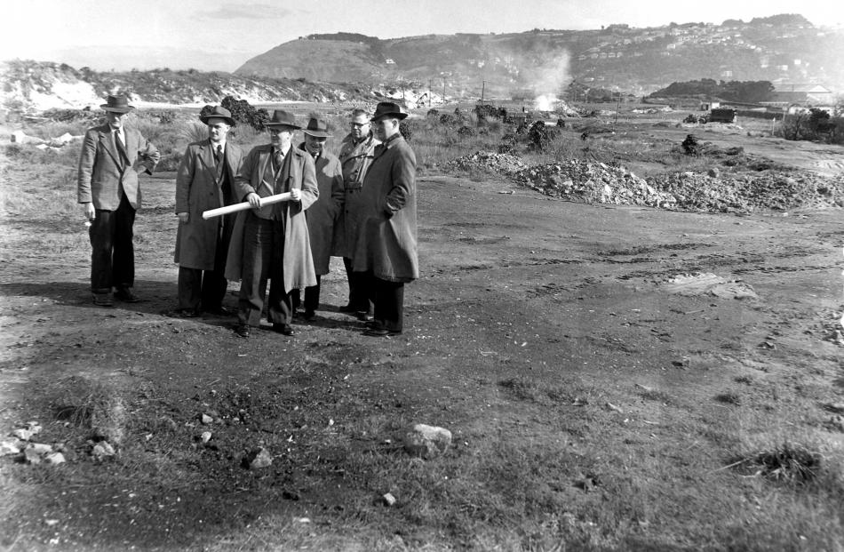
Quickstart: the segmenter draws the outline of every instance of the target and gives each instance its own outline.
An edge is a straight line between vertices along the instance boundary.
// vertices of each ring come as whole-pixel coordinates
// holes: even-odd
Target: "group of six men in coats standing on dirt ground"
[[[123,128],[133,109],[125,97],[109,96],[101,107],[107,124],[85,136],[78,200],[92,223],[94,304],[107,307],[113,289],[117,300],[139,300],[131,243],[137,170],[151,172],[159,155],[139,132]],[[223,305],[227,283],[240,280],[235,333],[250,336],[266,300],[273,331],[293,335],[300,290],[311,320],[321,276],[337,256],[349,284],[348,304],[339,310],[365,321],[368,335],[402,333],[404,284],[418,277],[416,158],[400,132],[406,116],[393,102],[379,103],[372,116],[355,109],[333,156],[325,149],[324,120],[311,117],[302,128],[291,113],[276,110],[266,124],[269,143],[244,155],[227,140],[235,126],[227,109],[203,110],[208,138],[187,146],[176,178],[175,314],[231,314]],[[298,130],[305,138],[296,147]],[[289,200],[263,203],[279,194]],[[250,208],[203,219],[203,212],[241,203]]]

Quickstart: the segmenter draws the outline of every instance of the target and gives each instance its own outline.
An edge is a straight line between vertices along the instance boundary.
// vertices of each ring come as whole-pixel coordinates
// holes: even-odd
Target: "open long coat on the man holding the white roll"
[[[275,194],[275,182],[267,180],[267,165],[272,164],[273,146],[265,144],[256,146],[243,159],[241,170],[235,177],[234,194],[238,201],[244,201],[252,192],[261,197]],[[281,204],[267,205],[259,211],[269,216],[274,209],[283,213],[284,225],[284,291],[316,285],[314,260],[311,257],[311,245],[307,236],[305,210],[314,204],[319,197],[316,186],[316,171],[311,156],[297,148],[292,148],[287,154],[284,168],[278,177],[281,192],[289,192],[293,188],[302,190],[299,202],[286,201]],[[232,230],[232,241],[228,246],[226,261],[226,278],[240,280],[243,268],[243,225],[248,211],[237,213],[235,226]]]

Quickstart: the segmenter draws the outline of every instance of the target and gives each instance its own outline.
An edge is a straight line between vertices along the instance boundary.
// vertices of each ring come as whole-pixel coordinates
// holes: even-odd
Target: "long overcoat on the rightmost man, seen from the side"
[[[401,134],[375,148],[363,180],[366,213],[354,249],[354,271],[382,280],[419,277],[416,219],[416,156]]]

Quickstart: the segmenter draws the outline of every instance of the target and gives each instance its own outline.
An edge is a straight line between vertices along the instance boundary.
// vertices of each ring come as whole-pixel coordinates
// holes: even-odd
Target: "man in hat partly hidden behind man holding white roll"
[[[305,319],[311,320],[320,304],[320,282],[322,275],[329,273],[333,250],[334,222],[343,208],[343,171],[337,156],[325,151],[325,142],[330,134],[324,119],[311,117],[302,131],[305,141],[299,149],[314,158],[316,185],[319,199],[305,213],[307,234],[314,258],[316,285],[305,288]],[[299,292],[293,292],[293,308],[299,307]]]

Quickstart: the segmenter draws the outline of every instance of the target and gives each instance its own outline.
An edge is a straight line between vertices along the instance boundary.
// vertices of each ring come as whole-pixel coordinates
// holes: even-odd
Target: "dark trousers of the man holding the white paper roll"
[[[283,222],[260,219],[249,212],[243,225],[243,274],[237,314],[241,324],[260,324],[267,278],[270,280],[267,320],[273,324],[291,323],[292,300],[291,293],[284,292],[283,260]]]

